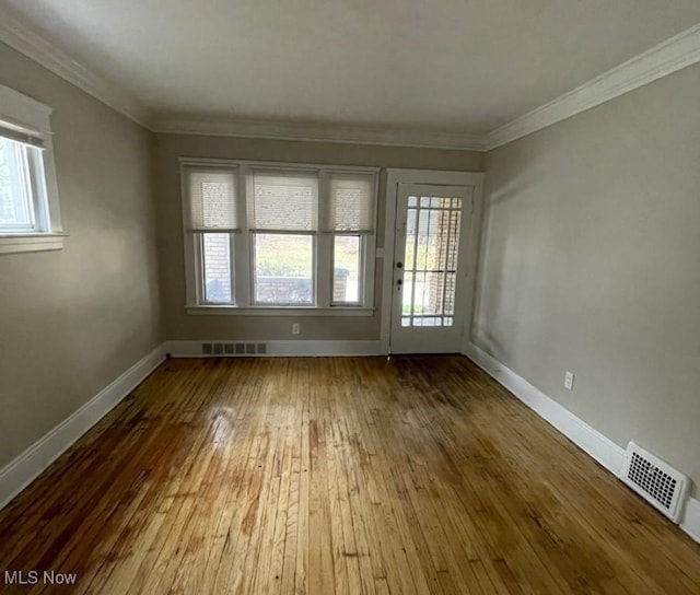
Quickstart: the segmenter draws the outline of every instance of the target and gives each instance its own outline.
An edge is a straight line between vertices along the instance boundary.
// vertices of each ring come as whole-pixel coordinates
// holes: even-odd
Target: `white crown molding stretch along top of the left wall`
[[[148,125],[150,110],[141,102],[32,31],[16,16],[10,14],[7,7],[2,9],[2,19],[0,19],[0,42],[24,54],[140,126],[150,128]]]

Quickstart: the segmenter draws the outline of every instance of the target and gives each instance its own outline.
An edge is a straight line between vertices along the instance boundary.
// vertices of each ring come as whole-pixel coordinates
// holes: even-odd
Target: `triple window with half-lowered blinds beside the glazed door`
[[[371,302],[376,172],[189,160],[182,172],[190,304]]]

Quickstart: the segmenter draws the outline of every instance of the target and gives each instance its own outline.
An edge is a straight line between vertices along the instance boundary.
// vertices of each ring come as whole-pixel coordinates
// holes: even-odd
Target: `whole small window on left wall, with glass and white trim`
[[[50,113],[0,85],[0,254],[62,247]]]

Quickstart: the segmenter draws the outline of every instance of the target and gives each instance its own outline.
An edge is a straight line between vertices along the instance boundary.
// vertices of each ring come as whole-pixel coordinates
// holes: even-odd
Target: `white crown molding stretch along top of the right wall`
[[[489,132],[486,151],[547,128],[700,61],[700,24]]]

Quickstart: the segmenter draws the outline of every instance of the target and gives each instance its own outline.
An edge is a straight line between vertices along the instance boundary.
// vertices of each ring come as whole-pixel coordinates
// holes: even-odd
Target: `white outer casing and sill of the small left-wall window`
[[[0,120],[21,129],[30,130],[40,136],[44,144],[42,151],[44,184],[46,189],[47,213],[44,221],[47,231],[32,230],[23,233],[13,231],[0,233],[0,254],[25,252],[57,250],[63,247],[63,238],[68,235],[61,224],[60,206],[58,201],[58,183],[56,180],[56,165],[54,162],[54,142],[50,116],[52,109],[43,103],[27,97],[9,86],[0,85]]]

